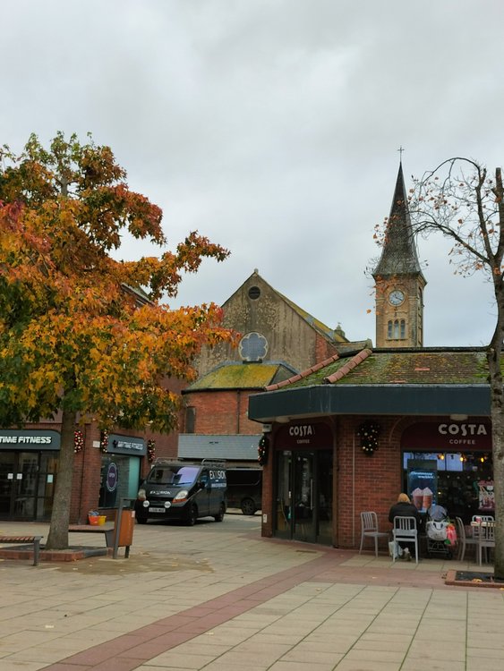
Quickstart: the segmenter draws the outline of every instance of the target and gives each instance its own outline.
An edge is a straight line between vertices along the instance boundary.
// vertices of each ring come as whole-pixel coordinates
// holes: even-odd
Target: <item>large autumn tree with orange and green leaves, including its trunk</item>
[[[179,399],[166,377],[194,377],[203,344],[233,337],[218,306],[169,310],[182,273],[228,252],[197,233],[176,251],[121,262],[129,232],[166,247],[160,208],[131,191],[108,147],[57,133],[31,135],[21,155],[0,149],[0,425],[62,413],[47,548],[68,547],[73,432],[175,428]],[[139,302],[139,294],[146,300]]]

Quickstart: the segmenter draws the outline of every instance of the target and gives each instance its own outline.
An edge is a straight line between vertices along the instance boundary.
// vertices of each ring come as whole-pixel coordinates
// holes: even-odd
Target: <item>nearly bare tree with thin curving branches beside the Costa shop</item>
[[[441,234],[453,245],[449,263],[456,274],[483,272],[497,319],[487,348],[491,387],[492,457],[495,494],[494,573],[504,579],[504,402],[501,355],[504,339],[504,191],[500,168],[494,176],[474,160],[454,157],[414,181],[409,210],[413,233]]]

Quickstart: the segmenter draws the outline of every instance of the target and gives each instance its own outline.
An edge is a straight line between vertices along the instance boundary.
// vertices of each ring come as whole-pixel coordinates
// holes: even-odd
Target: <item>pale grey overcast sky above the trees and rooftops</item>
[[[374,225],[443,159],[502,166],[502,0],[4,0],[2,144],[92,132],[205,261],[170,305],[222,304],[258,268],[329,327],[375,342]],[[483,276],[419,241],[424,344],[487,344]],[[124,259],[151,254],[126,241]],[[155,250],[158,253],[158,250]]]

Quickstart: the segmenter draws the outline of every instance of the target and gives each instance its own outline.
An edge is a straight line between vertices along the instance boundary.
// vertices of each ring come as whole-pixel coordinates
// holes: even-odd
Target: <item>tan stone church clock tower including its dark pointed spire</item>
[[[423,277],[399,164],[375,282],[376,346],[423,347]]]

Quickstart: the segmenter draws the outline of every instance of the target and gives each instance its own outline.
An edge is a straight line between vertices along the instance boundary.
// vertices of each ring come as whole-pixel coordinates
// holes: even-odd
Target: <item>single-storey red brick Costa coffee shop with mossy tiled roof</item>
[[[253,395],[262,535],[355,548],[361,511],[388,530],[401,491],[465,522],[491,512],[487,376],[483,348],[370,344]]]

